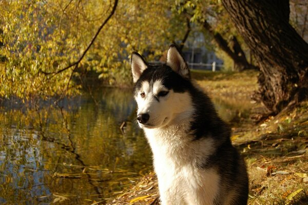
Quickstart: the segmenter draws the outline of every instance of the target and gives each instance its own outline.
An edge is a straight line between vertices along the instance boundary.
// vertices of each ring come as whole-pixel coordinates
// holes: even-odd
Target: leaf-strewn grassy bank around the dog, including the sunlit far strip
[[[266,116],[251,100],[257,74],[193,71],[192,77],[212,98],[254,104],[248,116],[238,113],[230,121],[231,139],[249,174],[248,204],[308,204],[308,101]],[[160,204],[158,197],[157,178],[150,172],[107,204]]]

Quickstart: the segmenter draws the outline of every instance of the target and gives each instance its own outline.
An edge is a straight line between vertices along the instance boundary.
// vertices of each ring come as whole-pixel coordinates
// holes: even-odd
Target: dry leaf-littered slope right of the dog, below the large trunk
[[[249,173],[248,204],[308,204],[307,109],[304,102],[237,133]]]

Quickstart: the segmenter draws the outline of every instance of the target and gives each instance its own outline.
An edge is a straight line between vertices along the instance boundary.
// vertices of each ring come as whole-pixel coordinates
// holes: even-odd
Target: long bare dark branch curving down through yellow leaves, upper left
[[[115,0],[114,1],[114,5],[112,7],[112,11],[111,13],[109,14],[109,16],[104,20],[103,24],[100,26],[100,28],[98,29],[98,31],[95,33],[94,37],[92,38],[90,44],[88,45],[88,47],[86,48],[86,50],[82,53],[81,57],[75,61],[75,63],[73,64],[70,64],[68,65],[67,67],[59,70],[59,71],[56,71],[56,72],[45,72],[45,71],[42,71],[42,73],[44,73],[45,75],[50,75],[50,74],[58,74],[58,73],[61,73],[73,66],[75,66],[75,68],[73,69],[73,72],[76,70],[76,68],[78,67],[78,65],[80,64],[80,61],[83,59],[83,57],[86,55],[86,53],[88,52],[88,50],[90,49],[90,47],[92,46],[92,44],[94,43],[95,39],[98,37],[99,33],[101,32],[101,30],[103,29],[103,27],[107,24],[108,20],[111,18],[111,16],[114,14],[115,12],[115,9],[117,8],[117,5],[118,5],[118,0]]]

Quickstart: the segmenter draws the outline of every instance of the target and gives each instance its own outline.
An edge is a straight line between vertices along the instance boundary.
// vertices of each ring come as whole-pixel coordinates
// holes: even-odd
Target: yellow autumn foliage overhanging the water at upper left
[[[120,1],[108,18],[115,2],[0,1],[0,98],[73,95],[87,72],[130,84],[133,50],[155,58],[187,38],[174,1]]]

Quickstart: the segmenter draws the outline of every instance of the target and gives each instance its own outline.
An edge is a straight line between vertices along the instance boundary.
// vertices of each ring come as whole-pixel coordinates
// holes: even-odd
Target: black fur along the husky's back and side
[[[198,88],[192,93],[197,107],[191,129],[198,143],[213,140],[213,148],[198,163],[200,170],[215,170],[219,175],[219,189],[213,204],[247,204],[248,177],[244,160],[230,141],[230,128],[217,115],[209,98]],[[206,148],[206,147],[204,147]],[[202,149],[202,148],[201,148]],[[194,204],[194,203],[191,203]],[[210,203],[203,203],[210,204]]]

